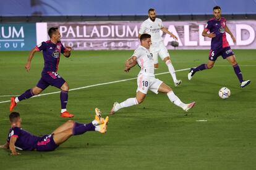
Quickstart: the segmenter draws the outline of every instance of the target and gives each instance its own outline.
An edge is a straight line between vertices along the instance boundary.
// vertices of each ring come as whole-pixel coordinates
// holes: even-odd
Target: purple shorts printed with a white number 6
[[[222,56],[223,59],[234,55],[234,52],[231,50],[231,47],[224,47],[220,49],[211,49],[209,54],[209,60],[216,61],[219,56]]]

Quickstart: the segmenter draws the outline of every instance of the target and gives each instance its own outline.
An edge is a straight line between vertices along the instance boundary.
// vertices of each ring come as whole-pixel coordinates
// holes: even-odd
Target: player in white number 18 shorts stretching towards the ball
[[[138,105],[145,99],[148,90],[158,94],[163,92],[168,95],[169,100],[181,107],[185,111],[189,111],[190,108],[194,107],[195,102],[185,104],[174,94],[171,87],[167,86],[160,79],[155,78],[154,60],[152,54],[148,50],[151,44],[150,34],[142,34],[140,36],[140,46],[134,51],[134,54],[130,59],[126,61],[126,68],[124,71],[129,72],[130,68],[135,65],[139,65],[140,73],[137,78],[137,94],[134,98],[129,98],[122,103],[115,102],[110,112],[111,115],[116,113],[121,108],[130,107],[132,105]]]

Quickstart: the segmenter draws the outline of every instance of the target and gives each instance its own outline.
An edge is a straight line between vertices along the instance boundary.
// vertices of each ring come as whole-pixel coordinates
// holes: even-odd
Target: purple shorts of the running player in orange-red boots
[[[42,73],[41,79],[38,81],[36,86],[43,90],[46,89],[46,87],[49,85],[61,89],[61,86],[65,82],[66,81],[58,73],[55,73],[54,71],[48,71],[46,73]]]

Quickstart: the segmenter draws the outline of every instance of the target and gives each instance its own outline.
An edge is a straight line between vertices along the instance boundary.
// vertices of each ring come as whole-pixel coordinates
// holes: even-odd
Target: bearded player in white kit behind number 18
[[[166,63],[168,70],[173,77],[174,86],[177,87],[179,84],[182,83],[181,80],[177,80],[176,73],[171,63],[170,55],[166,47],[163,43],[163,38],[161,37],[160,30],[164,33],[171,35],[174,39],[177,40],[177,37],[168,31],[167,28],[163,26],[163,22],[160,18],[156,18],[156,10],[149,9],[148,10],[148,19],[145,20],[142,25],[140,26],[139,30],[139,38],[143,33],[147,33],[151,35],[152,44],[150,46],[150,52],[153,54],[154,66],[158,68],[158,55],[161,59]]]

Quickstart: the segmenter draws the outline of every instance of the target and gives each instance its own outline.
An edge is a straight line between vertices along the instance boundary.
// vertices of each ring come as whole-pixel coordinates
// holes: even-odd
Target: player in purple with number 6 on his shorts
[[[221,8],[219,6],[213,7],[213,15],[214,17],[208,20],[207,25],[205,25],[205,29],[202,33],[202,36],[207,36],[211,38],[211,50],[208,63],[203,63],[197,68],[191,68],[187,77],[190,80],[197,71],[213,68],[216,59],[221,55],[223,59],[227,59],[228,62],[233,65],[234,72],[236,73],[236,76],[241,83],[240,87],[244,88],[245,86],[250,84],[250,80],[245,81],[242,78],[242,72],[236,62],[234,52],[231,50],[231,47],[229,46],[226,39],[226,32],[231,35],[233,42],[236,42],[236,38],[234,38],[233,34],[226,25],[226,19],[224,17],[221,17]],[[207,33],[208,31],[210,31],[210,33]]]

